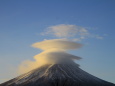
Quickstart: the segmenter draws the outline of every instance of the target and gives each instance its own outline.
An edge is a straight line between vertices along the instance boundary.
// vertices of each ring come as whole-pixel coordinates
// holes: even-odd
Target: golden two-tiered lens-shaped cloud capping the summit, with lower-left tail
[[[37,42],[32,45],[34,48],[43,50],[40,54],[34,56],[34,61],[26,60],[19,66],[19,73],[26,73],[32,69],[40,67],[45,64],[54,64],[62,61],[62,59],[79,60],[81,57],[71,55],[67,53],[67,50],[78,49],[82,47],[82,44],[64,40],[53,39]],[[60,60],[61,59],[61,60]]]

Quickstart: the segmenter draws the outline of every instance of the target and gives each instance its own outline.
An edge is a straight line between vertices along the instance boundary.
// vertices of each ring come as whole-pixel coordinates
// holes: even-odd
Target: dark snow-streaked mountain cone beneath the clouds
[[[74,61],[45,64],[0,86],[115,86],[84,70]]]

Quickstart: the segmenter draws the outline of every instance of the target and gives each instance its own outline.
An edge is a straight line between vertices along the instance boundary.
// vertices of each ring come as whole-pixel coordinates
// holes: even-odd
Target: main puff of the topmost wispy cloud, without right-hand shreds
[[[53,35],[59,38],[71,38],[77,36],[78,38],[89,35],[89,32],[86,28],[76,26],[76,25],[65,25],[60,24],[56,26],[50,26],[46,32],[42,35]]]

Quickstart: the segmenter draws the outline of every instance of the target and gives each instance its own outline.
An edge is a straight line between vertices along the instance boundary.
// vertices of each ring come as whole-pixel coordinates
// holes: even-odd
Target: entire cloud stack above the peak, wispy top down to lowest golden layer
[[[99,35],[91,35],[86,28],[76,25],[55,25],[50,26],[43,35],[53,35],[59,39],[44,40],[32,44],[43,52],[34,56],[34,60],[26,60],[19,66],[19,72],[25,73],[44,64],[53,64],[62,59],[79,60],[81,57],[67,53],[67,50],[79,49],[83,45],[75,41],[81,41],[89,36],[102,39]],[[61,60],[60,60],[61,59]]]

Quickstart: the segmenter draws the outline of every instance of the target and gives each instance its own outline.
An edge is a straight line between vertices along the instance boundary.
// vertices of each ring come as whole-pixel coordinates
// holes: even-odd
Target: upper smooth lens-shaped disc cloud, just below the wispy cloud
[[[42,50],[48,50],[48,49],[71,50],[82,47],[82,44],[69,41],[67,39],[53,39],[53,40],[44,40],[42,42],[37,42],[34,43],[32,46]]]

